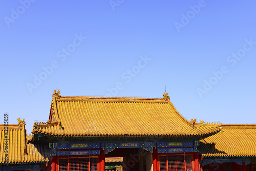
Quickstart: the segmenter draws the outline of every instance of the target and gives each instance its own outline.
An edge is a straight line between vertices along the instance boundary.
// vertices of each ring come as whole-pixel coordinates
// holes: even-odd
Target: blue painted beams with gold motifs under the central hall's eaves
[[[92,142],[92,143],[49,143],[52,148],[51,156],[63,155],[90,155],[100,154],[100,150],[90,149],[105,149],[105,154],[112,152],[116,148],[143,148],[148,152],[153,153],[153,147],[158,148],[158,153],[189,153],[194,152],[195,149],[188,147],[195,147],[193,141],[172,141],[172,142]],[[167,147],[167,148],[166,148]],[[171,148],[181,147],[181,148]],[[73,151],[66,151],[66,150]],[[86,150],[84,150],[86,149]],[[78,151],[76,151],[78,150]]]

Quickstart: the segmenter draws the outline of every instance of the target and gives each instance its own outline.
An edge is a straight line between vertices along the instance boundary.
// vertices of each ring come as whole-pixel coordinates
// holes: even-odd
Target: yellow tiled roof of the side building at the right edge
[[[256,125],[223,124],[218,134],[200,140],[206,157],[256,156]]]

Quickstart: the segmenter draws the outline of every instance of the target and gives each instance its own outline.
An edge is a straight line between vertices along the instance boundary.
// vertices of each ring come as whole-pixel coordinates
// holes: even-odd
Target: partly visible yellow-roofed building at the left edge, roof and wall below
[[[0,124],[0,170],[41,170],[48,161],[49,151],[44,144],[31,144],[25,121],[18,124]]]

